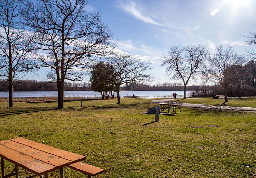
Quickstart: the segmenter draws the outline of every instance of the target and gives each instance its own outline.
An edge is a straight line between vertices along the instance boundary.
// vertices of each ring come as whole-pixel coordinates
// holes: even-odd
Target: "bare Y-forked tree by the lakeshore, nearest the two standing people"
[[[166,67],[166,73],[171,79],[181,79],[184,85],[184,97],[186,98],[186,86],[191,78],[195,78],[205,71],[204,62],[209,55],[208,48],[202,45],[173,45],[168,54],[162,59],[162,66]]]

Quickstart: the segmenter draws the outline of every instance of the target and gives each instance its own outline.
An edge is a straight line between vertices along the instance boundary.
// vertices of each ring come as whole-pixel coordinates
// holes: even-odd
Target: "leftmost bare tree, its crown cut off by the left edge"
[[[7,78],[9,107],[13,107],[13,83],[36,66],[29,59],[33,37],[21,27],[20,0],[0,1],[0,76]]]

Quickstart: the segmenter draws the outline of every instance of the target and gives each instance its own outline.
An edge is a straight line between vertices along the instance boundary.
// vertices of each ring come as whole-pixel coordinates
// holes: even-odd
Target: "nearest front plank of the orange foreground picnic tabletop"
[[[0,144],[1,158],[22,167],[36,175],[43,175],[47,172],[56,170],[56,167],[43,161],[32,158],[13,149]]]

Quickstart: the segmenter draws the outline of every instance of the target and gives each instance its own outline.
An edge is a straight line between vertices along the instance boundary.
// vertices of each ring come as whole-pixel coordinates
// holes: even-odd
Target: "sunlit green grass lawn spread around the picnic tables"
[[[66,101],[64,109],[56,101],[13,108],[2,102],[0,141],[23,137],[85,155],[84,162],[105,170],[98,177],[256,176],[256,113],[182,108],[154,122],[155,115],[143,113],[155,107],[149,99],[116,102]],[[64,174],[84,177],[67,167]]]

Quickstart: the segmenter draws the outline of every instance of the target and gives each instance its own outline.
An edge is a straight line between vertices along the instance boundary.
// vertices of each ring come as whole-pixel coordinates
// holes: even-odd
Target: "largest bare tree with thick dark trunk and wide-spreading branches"
[[[26,0],[23,17],[37,35],[35,57],[50,68],[63,108],[64,80],[80,81],[92,56],[115,47],[100,13],[85,12],[87,0]]]

